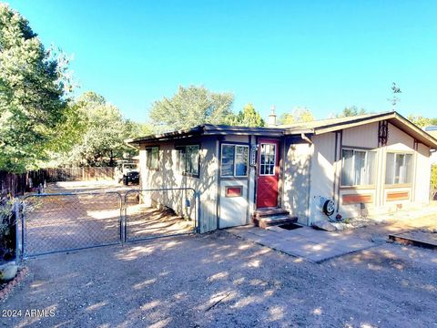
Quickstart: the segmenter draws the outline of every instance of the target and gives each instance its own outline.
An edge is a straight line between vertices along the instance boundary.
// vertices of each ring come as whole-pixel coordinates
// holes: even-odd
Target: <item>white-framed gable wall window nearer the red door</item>
[[[375,151],[342,149],[341,186],[369,186],[375,179]]]

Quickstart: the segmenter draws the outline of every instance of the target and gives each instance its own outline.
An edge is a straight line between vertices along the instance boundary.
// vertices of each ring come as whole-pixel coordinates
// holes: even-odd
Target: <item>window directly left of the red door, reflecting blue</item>
[[[247,177],[249,146],[221,145],[221,176]]]

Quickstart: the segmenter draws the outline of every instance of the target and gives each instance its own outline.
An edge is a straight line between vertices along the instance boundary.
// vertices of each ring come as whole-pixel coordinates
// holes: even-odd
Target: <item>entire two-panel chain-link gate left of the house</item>
[[[35,194],[21,200],[17,213],[25,259],[196,232],[198,194],[191,188]]]

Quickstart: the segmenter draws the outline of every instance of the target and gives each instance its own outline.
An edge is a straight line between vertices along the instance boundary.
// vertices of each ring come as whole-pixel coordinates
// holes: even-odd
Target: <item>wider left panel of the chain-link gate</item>
[[[118,192],[25,197],[24,257],[120,243],[121,201]]]

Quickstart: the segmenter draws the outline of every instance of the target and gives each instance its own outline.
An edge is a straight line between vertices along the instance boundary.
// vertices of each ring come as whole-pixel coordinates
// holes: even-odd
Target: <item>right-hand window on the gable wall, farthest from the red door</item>
[[[387,153],[385,184],[412,183],[412,154]]]

